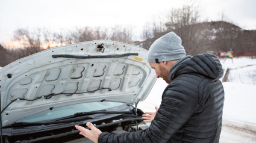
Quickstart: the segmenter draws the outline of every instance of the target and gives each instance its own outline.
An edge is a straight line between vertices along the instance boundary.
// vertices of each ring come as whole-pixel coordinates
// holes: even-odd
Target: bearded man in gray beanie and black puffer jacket
[[[91,130],[75,126],[80,134],[93,142],[219,142],[224,101],[219,59],[207,53],[186,56],[181,38],[169,32],[152,44],[148,62],[169,84],[157,112],[143,115],[152,121],[149,129],[115,135],[87,123]]]

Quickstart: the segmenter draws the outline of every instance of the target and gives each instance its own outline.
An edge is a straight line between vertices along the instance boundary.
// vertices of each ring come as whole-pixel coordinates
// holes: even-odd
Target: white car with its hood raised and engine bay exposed
[[[0,69],[2,142],[90,142],[102,132],[146,129],[137,104],[156,81],[148,51],[96,40],[43,50]]]

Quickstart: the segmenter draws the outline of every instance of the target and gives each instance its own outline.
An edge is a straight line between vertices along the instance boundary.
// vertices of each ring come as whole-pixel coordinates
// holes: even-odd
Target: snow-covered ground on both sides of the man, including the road
[[[225,102],[220,142],[256,142],[256,59],[220,59],[224,70],[230,68],[228,82],[223,82]],[[149,96],[138,108],[154,112],[160,106],[166,82],[157,79]]]

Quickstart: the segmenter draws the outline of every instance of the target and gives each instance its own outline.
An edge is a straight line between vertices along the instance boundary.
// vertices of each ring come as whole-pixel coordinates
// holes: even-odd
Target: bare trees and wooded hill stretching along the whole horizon
[[[51,31],[46,28],[26,29],[14,31],[13,45],[0,44],[0,67],[16,59],[40,52],[56,46],[91,40],[113,40],[149,49],[157,38],[173,31],[183,41],[187,55],[196,55],[213,51],[216,55],[220,51],[233,50],[234,56],[256,55],[256,30],[246,31],[225,19],[215,22],[200,22],[198,8],[184,5],[173,9],[166,15],[166,19],[148,24],[143,29],[141,38],[136,40],[133,29],[125,26],[113,28],[76,28],[69,31]]]

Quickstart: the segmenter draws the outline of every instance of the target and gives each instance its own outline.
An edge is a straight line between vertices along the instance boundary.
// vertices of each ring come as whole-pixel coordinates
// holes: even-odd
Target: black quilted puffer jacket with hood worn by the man
[[[177,63],[149,129],[120,135],[104,132],[98,142],[219,142],[224,102],[219,59],[200,54]]]

